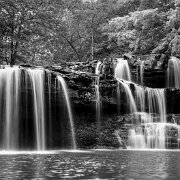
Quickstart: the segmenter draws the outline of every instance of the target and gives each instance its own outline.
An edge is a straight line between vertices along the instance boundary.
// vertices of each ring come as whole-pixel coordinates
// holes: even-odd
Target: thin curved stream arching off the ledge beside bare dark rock
[[[70,121],[70,127],[71,127],[72,147],[73,147],[73,149],[76,149],[77,145],[76,145],[76,138],[75,138],[74,121],[73,121],[73,115],[72,115],[72,110],[71,110],[71,103],[70,103],[69,95],[68,95],[68,88],[67,88],[65,80],[61,76],[57,76],[57,80],[58,80],[58,86],[62,87],[62,90],[64,93],[64,98],[66,101],[66,106],[67,106],[68,116],[69,116],[69,121]]]

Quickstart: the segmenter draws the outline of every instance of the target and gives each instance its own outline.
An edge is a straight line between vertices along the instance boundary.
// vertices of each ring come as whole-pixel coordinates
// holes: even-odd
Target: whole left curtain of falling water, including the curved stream
[[[47,83],[46,80],[47,79]],[[0,69],[0,149],[1,150],[47,150],[69,147],[69,140],[63,139],[59,131],[63,127],[71,129],[72,146],[76,149],[75,132],[67,87],[62,77],[58,76],[58,84],[62,86],[65,107],[69,114],[70,125],[65,127],[64,114],[60,121],[58,114],[62,101],[54,98],[56,80],[51,72],[44,69],[24,69],[5,66]],[[53,80],[53,81],[52,81]],[[46,91],[47,89],[47,91]],[[51,103],[53,98],[53,102]],[[57,103],[56,103],[57,102]],[[53,107],[52,107],[53,106]],[[63,105],[64,106],[64,105]],[[57,112],[54,111],[57,109]],[[53,110],[53,113],[51,112]],[[52,120],[53,119],[53,120]],[[51,123],[52,126],[51,126]],[[58,128],[60,124],[60,127]],[[67,124],[67,123],[66,123]],[[70,127],[70,128],[69,128]],[[69,130],[66,131],[66,136]],[[55,137],[55,138],[54,138]],[[67,141],[66,141],[67,140]],[[59,144],[60,143],[60,144]]]

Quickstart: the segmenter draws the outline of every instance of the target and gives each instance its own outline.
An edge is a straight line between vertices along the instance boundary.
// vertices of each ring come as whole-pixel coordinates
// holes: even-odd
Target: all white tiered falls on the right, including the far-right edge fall
[[[124,59],[117,61],[115,78],[118,81],[118,103],[120,105],[120,101],[124,101],[123,95],[125,94],[129,113],[135,113],[128,133],[128,147],[165,149],[168,138],[166,132],[168,127],[172,127],[172,124],[169,125],[166,121],[165,89],[142,87],[144,84],[144,61],[140,65],[140,84],[142,86],[132,82],[128,62]],[[180,88],[180,61],[175,57],[172,57],[168,64],[168,87]],[[142,118],[143,114],[146,115],[145,118]],[[179,134],[179,128],[177,133]]]

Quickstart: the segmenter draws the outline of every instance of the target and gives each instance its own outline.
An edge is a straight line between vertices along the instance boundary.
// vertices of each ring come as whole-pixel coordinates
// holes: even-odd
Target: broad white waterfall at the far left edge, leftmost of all
[[[18,68],[0,69],[1,122],[4,124],[3,149],[19,148],[19,87],[21,71]],[[3,119],[5,119],[3,123]]]

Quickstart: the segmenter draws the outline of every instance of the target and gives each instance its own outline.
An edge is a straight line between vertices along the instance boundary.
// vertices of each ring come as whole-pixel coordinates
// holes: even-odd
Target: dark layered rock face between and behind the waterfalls
[[[132,120],[133,117],[129,118],[128,105],[125,99],[125,94],[122,93],[122,99],[119,104],[117,89],[118,83],[114,78],[114,68],[117,64],[116,59],[105,60],[101,62],[100,74],[95,74],[95,68],[97,61],[90,65],[86,65],[83,68],[81,64],[81,71],[78,71],[78,66],[75,70],[74,65],[71,68],[65,70],[52,69],[53,71],[59,71],[62,73],[67,80],[70,88],[70,96],[73,102],[75,112],[75,124],[77,129],[77,136],[80,147],[94,147],[94,146],[105,146],[105,147],[118,147],[119,134],[124,134],[124,139],[127,139],[128,128],[126,124]],[[135,94],[135,85],[133,82],[139,84],[142,87],[141,79],[141,66],[133,65],[130,63],[132,83],[130,83],[130,89]],[[88,69],[87,69],[88,67]],[[101,104],[101,128],[97,128],[96,122],[96,93],[95,83],[99,77],[99,93],[100,93],[100,104]],[[143,69],[143,88],[164,88],[166,87],[167,69],[156,68],[152,66],[144,66]],[[179,101],[180,98],[179,90],[175,88],[165,88],[165,99],[167,106],[167,113],[179,113]],[[125,118],[124,118],[125,117]],[[171,119],[171,118],[170,118]],[[178,117],[176,117],[178,119]],[[168,120],[169,122],[170,120]],[[85,131],[84,131],[85,129]],[[176,130],[171,127],[168,129],[170,134],[177,134]],[[120,130],[120,131],[119,131]],[[100,133],[101,131],[101,133]],[[177,146],[176,135],[174,135],[175,146]],[[86,139],[89,139],[87,143]],[[173,143],[174,143],[173,142]],[[172,144],[172,143],[171,143]],[[124,147],[123,143],[120,145]]]

